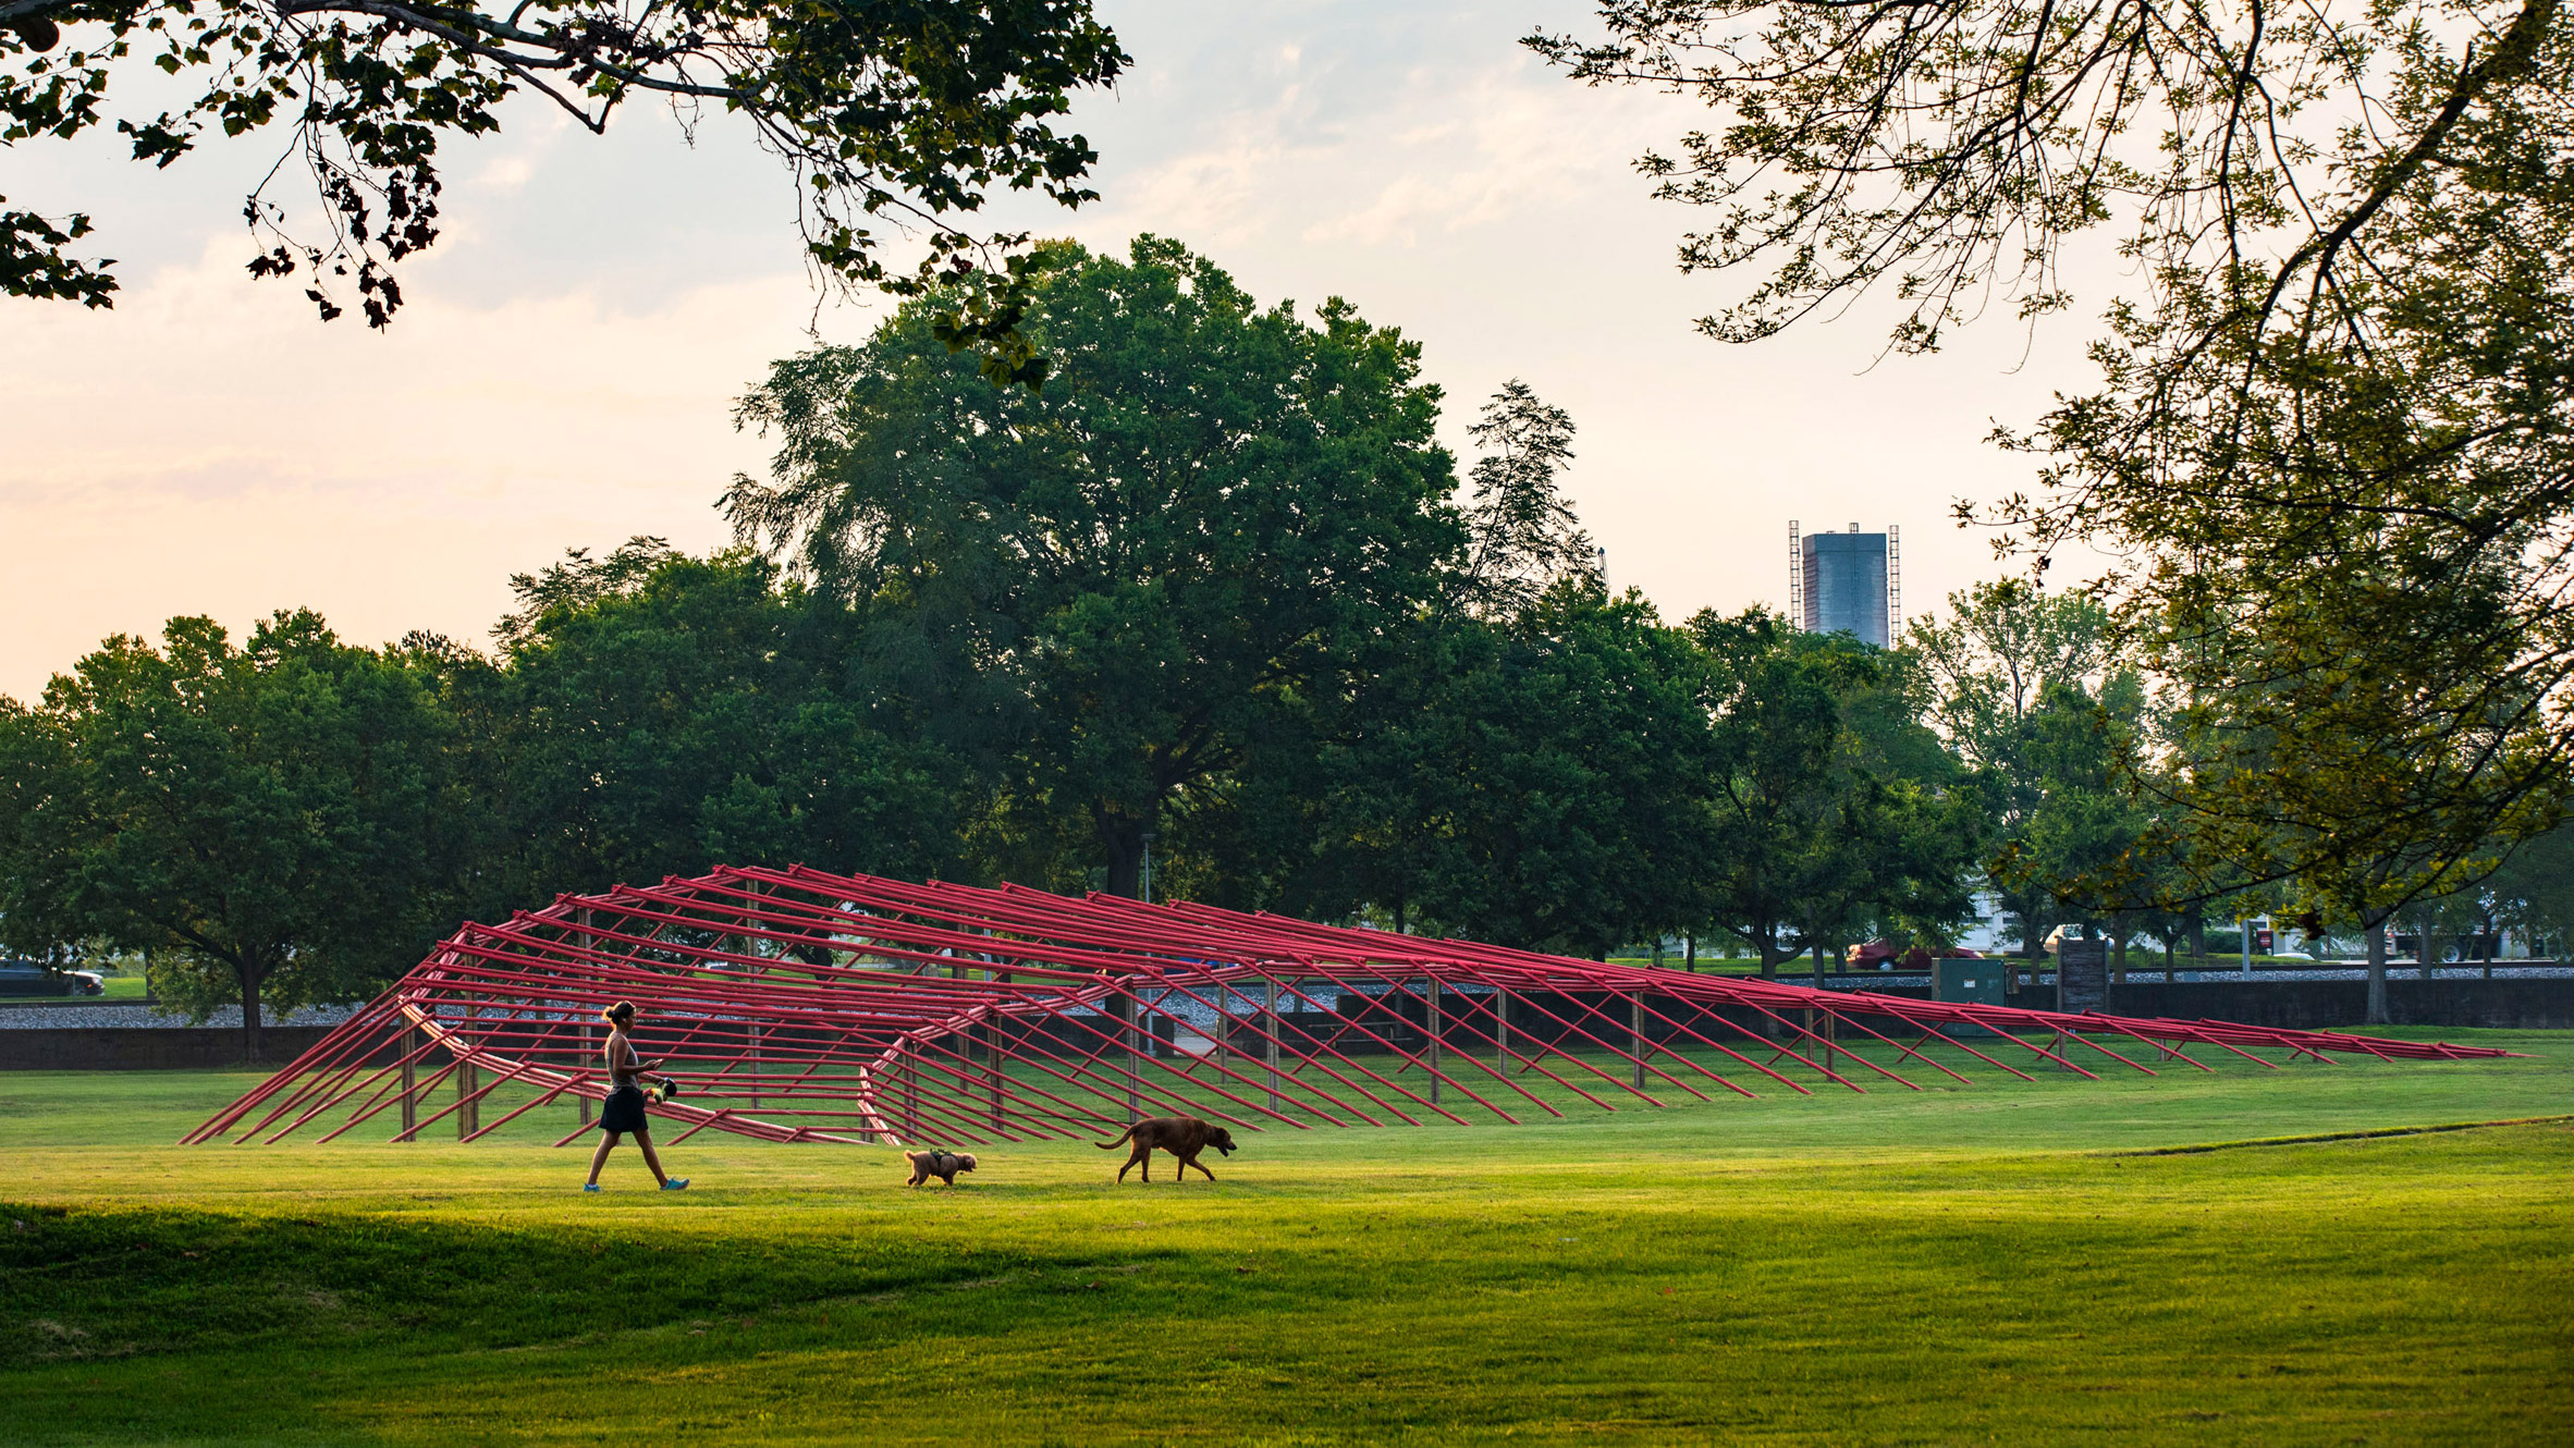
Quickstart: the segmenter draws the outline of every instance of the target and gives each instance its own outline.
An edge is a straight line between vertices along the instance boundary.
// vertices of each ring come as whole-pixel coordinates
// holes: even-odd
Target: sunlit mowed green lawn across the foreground
[[[2450,1039],[2533,1060],[1261,1132],[1212,1186],[703,1134],[602,1196],[569,1106],[175,1147],[257,1078],[10,1072],[0,1440],[2566,1443],[2564,1121],[2118,1155],[2574,1114],[2574,1039]]]

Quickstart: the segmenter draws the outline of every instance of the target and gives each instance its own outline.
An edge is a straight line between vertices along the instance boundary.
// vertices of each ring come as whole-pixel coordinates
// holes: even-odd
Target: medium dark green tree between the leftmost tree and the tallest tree
[[[955,874],[973,779],[831,599],[638,538],[517,579],[489,810],[523,900],[716,864]]]

